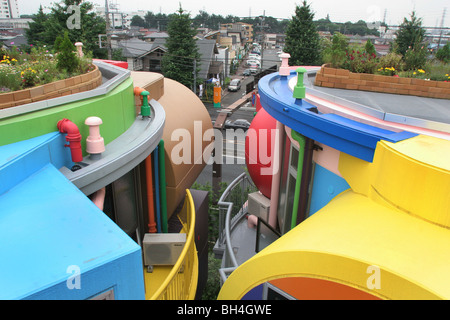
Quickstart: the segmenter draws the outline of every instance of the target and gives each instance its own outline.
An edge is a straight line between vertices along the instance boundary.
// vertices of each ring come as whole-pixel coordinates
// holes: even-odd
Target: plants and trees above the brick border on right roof
[[[404,18],[390,52],[378,56],[374,45],[349,45],[348,39],[335,33],[331,40],[323,40],[323,60],[333,68],[353,73],[380,74],[434,81],[450,81],[450,43],[437,52],[428,49],[422,19],[413,11]]]

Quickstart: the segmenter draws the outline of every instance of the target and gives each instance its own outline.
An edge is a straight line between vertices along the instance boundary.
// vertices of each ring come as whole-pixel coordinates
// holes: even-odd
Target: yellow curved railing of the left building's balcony
[[[189,190],[178,214],[186,232],[186,245],[162,285],[150,300],[193,300],[197,289],[198,257],[195,247],[195,206]]]

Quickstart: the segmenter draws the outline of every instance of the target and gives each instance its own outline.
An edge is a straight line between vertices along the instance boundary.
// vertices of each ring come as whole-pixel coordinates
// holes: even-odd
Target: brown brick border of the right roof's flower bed
[[[450,82],[402,78],[377,74],[353,73],[323,65],[314,85],[329,88],[450,99]]]

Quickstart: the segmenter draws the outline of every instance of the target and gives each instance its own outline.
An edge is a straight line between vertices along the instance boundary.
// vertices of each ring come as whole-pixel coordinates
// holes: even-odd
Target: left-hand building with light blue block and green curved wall
[[[99,86],[0,110],[0,299],[194,299],[207,195],[189,188],[211,142],[176,164],[171,136],[209,114],[176,81],[95,64]]]

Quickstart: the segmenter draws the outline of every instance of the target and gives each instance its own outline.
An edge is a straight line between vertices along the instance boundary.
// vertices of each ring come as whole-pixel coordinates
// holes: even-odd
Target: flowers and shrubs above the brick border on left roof
[[[0,94],[64,80],[93,70],[89,56],[79,56],[67,32],[54,48],[32,46],[30,52],[0,49]]]

